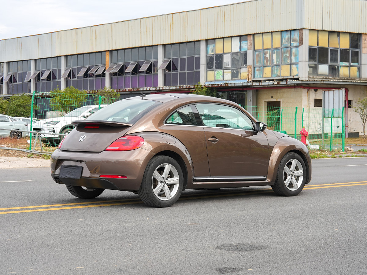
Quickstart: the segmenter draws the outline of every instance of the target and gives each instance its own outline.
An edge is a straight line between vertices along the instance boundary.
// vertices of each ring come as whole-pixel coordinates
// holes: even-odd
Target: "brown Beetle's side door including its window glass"
[[[241,110],[224,104],[196,104],[204,124],[210,176],[215,180],[264,180],[269,144]]]

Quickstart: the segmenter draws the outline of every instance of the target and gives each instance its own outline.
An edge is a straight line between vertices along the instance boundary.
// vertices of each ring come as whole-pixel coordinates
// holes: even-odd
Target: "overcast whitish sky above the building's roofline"
[[[0,0],[0,39],[242,1],[246,0]]]

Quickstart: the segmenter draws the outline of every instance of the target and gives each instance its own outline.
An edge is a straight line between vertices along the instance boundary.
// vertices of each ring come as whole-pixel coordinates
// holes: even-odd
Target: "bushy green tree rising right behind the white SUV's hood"
[[[63,90],[59,88],[51,91],[50,107],[54,111],[70,112],[83,106],[87,99],[87,91],[80,91],[73,86]]]

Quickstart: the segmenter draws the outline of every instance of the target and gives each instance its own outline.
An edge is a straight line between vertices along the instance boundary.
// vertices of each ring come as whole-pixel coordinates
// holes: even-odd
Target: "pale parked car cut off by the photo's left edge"
[[[22,132],[28,131],[27,123],[21,120],[17,120],[16,118],[9,115],[0,115],[0,128],[6,129],[0,130],[1,137],[12,137],[20,139],[22,136],[26,136],[28,134],[27,132]]]

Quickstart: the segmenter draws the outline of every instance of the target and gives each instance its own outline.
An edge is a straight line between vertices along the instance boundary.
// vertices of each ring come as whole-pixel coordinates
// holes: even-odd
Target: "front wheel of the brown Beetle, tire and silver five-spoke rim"
[[[298,195],[306,183],[306,165],[296,153],[289,152],[281,159],[273,191],[281,196]]]

